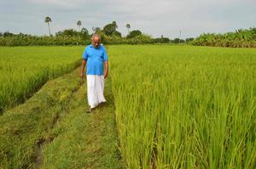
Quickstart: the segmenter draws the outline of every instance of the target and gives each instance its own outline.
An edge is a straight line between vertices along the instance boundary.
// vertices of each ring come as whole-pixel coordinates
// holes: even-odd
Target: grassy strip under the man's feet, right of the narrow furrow
[[[113,96],[108,80],[105,87],[107,104],[91,114],[87,105],[85,85],[74,96],[70,112],[56,124],[58,137],[44,146],[42,168],[122,168],[114,118]],[[65,140],[65,141],[63,141]]]

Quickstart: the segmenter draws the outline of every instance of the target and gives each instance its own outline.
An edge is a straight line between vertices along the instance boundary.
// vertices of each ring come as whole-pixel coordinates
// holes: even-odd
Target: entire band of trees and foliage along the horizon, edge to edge
[[[256,47],[256,28],[237,30],[224,34],[203,33],[196,38],[174,38],[151,37],[140,30],[131,30],[131,25],[126,24],[127,35],[123,36],[118,31],[116,21],[101,27],[92,27],[92,33],[82,27],[82,22],[77,21],[78,30],[67,29],[51,34],[49,16],[45,17],[44,22],[49,28],[49,36],[32,36],[28,34],[14,34],[9,31],[0,32],[0,46],[30,46],[30,45],[86,45],[90,44],[90,37],[97,33],[102,37],[104,44],[155,44],[155,43],[188,43],[196,46],[212,47],[231,47],[231,48],[255,48]],[[82,27],[82,28],[81,28]]]

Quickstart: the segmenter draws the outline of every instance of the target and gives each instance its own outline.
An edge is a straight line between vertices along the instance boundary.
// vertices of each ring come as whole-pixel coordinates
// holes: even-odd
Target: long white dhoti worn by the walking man
[[[104,76],[87,75],[87,98],[90,108],[106,102],[104,98]]]

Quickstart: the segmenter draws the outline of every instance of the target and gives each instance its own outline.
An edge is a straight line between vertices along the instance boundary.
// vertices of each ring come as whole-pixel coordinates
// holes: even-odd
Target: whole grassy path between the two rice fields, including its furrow
[[[0,118],[0,168],[119,168],[111,83],[92,114],[79,70],[47,82]]]

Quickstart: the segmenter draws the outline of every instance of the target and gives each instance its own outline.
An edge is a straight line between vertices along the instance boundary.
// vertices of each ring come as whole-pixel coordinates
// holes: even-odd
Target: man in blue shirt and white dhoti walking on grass
[[[108,76],[108,54],[101,44],[101,37],[94,34],[91,37],[91,44],[84,49],[81,78],[84,76],[84,66],[86,67],[87,98],[90,113],[98,104],[106,102],[104,98],[104,79]]]

